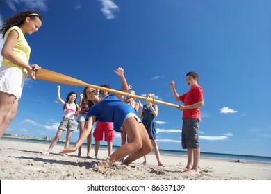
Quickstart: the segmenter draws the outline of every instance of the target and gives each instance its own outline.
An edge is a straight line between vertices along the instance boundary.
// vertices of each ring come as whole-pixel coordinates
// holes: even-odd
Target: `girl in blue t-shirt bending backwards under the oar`
[[[120,76],[122,82],[122,89],[120,89],[120,91],[127,91],[128,85],[124,77],[124,69],[117,68],[115,73]],[[71,148],[62,150],[60,152],[61,154],[76,151],[88,134],[90,134],[92,125],[95,121],[114,122],[114,130],[116,132],[122,132],[122,130],[125,131],[130,139],[129,143],[121,145],[120,148],[115,150],[115,152],[106,159],[106,161],[99,164],[96,170],[100,173],[104,173],[106,168],[113,162],[120,161],[126,156],[128,157],[122,161],[122,164],[128,166],[131,162],[151,152],[152,147],[147,130],[141,123],[140,118],[136,115],[133,107],[118,99],[120,98],[120,95],[109,95],[104,98],[104,100],[101,100],[97,89],[92,87],[88,87],[87,95],[89,96],[89,99],[92,100],[92,103],[94,103],[88,111],[88,123],[75,145]]]

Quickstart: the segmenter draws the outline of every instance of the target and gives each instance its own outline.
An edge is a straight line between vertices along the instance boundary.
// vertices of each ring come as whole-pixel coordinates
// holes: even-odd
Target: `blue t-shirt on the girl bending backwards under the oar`
[[[127,114],[136,114],[133,107],[123,103],[116,96],[109,95],[104,100],[92,105],[88,110],[88,116],[96,116],[96,121],[114,122],[114,130],[122,132],[120,128]]]

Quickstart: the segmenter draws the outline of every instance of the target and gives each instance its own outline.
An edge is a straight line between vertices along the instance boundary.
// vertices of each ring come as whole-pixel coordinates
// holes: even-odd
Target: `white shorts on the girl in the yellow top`
[[[0,91],[13,94],[16,100],[20,100],[26,76],[21,69],[16,67],[0,66]]]

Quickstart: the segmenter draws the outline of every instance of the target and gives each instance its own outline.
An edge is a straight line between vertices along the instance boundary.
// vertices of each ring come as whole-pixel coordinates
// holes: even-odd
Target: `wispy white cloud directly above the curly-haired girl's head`
[[[14,12],[17,12],[16,6],[19,4],[23,4],[26,6],[26,8],[30,8],[31,10],[39,9],[46,11],[46,1],[47,0],[6,0],[6,3],[8,4],[8,7]]]

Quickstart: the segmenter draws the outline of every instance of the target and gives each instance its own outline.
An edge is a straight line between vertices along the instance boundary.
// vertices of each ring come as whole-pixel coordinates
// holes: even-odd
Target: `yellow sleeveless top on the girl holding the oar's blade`
[[[13,27],[9,28],[8,31],[5,33],[5,36],[3,39],[4,39],[4,41],[6,41],[8,34],[12,30],[16,30],[19,33],[19,37],[17,39],[15,47],[13,48],[13,53],[16,55],[17,58],[19,58],[19,60],[22,60],[23,62],[28,64],[31,48],[28,45],[28,43],[24,37],[24,33],[22,33],[21,28],[19,28],[18,26],[13,26]],[[27,76],[27,70],[25,68],[20,67],[17,64],[13,64],[12,62],[7,60],[6,58],[3,58],[2,65],[5,65],[7,67],[17,67],[19,69],[22,69],[22,71],[24,72],[24,75]]]

